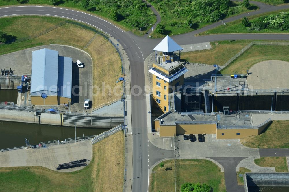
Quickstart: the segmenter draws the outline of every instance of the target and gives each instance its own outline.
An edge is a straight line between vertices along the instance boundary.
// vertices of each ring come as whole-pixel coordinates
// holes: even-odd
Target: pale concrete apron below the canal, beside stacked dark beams
[[[19,149],[0,152],[0,167],[42,166],[56,171],[58,164],[68,163],[79,159],[92,159],[91,141],[79,141],[67,144],[51,144],[48,147],[35,149]],[[84,167],[58,170],[72,172]]]

